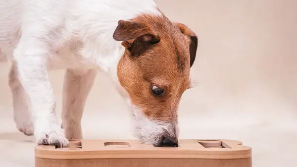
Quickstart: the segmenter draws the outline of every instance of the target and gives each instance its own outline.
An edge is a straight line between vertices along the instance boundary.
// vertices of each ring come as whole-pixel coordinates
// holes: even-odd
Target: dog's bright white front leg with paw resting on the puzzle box
[[[48,46],[40,39],[21,38],[14,50],[20,82],[28,95],[39,145],[66,147],[69,142],[56,118],[56,101],[46,67]]]

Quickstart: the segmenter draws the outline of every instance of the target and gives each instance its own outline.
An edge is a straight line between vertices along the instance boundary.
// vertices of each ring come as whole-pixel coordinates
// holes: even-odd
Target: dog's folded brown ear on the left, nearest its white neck
[[[160,41],[147,25],[124,20],[118,22],[113,39],[123,41],[122,46],[130,52],[131,56],[142,55]]]

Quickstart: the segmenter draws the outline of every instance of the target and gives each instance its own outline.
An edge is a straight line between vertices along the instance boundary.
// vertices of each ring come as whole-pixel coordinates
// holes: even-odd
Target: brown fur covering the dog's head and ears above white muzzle
[[[120,21],[114,33],[126,48],[118,63],[120,84],[132,103],[155,120],[177,121],[180,98],[190,88],[190,36],[196,35],[180,25],[164,15],[144,14]],[[197,47],[192,50],[196,55]],[[163,95],[155,96],[152,86],[164,89]]]

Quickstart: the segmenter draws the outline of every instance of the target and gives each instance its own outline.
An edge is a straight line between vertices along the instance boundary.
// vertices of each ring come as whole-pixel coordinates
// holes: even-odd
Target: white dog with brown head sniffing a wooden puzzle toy
[[[127,102],[135,136],[178,145],[178,106],[191,88],[197,35],[153,0],[0,0],[1,59],[17,128],[39,145],[82,139],[81,118],[97,71]],[[65,69],[62,125],[48,71]],[[64,128],[64,132],[63,129]]]

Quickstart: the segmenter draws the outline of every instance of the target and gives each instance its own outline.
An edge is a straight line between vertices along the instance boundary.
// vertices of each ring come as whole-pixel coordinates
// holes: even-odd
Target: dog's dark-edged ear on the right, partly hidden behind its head
[[[185,36],[190,38],[190,44],[189,44],[190,45],[190,67],[192,67],[192,65],[195,61],[195,58],[196,58],[196,53],[197,53],[197,48],[198,48],[198,37],[185,24],[177,23],[177,22],[173,22],[173,24],[175,26],[177,26]]]

